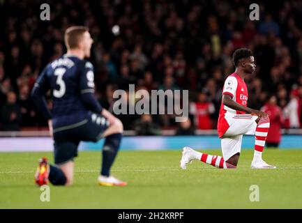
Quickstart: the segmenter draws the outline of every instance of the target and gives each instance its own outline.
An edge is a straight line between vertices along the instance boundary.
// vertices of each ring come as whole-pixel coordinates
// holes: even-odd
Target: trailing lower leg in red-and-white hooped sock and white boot
[[[186,169],[186,164],[192,162],[192,160],[199,160],[206,164],[210,164],[213,167],[220,169],[234,169],[235,165],[225,162],[223,157],[218,155],[209,155],[206,153],[199,153],[190,147],[183,148],[183,156],[181,157],[181,168]]]

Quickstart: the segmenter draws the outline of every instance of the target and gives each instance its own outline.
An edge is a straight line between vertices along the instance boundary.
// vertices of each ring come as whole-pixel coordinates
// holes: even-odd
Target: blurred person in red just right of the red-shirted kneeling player
[[[269,115],[269,120],[271,122],[266,138],[266,146],[278,148],[281,141],[283,117],[282,109],[277,105],[277,98],[275,95],[269,97],[266,105],[264,105],[261,110]]]

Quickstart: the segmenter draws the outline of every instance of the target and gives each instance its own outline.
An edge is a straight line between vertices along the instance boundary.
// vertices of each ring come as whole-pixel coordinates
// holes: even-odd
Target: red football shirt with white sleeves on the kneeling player
[[[248,105],[248,88],[243,79],[236,74],[236,72],[229,75],[225,79],[225,84],[223,86],[222,95],[228,94],[232,97],[232,100],[247,107]],[[246,114],[246,112],[236,111],[231,109],[221,102],[220,112],[218,118],[218,136],[221,138],[223,134],[227,131],[230,125],[234,123],[236,118],[244,118],[244,116],[236,117],[236,114]]]

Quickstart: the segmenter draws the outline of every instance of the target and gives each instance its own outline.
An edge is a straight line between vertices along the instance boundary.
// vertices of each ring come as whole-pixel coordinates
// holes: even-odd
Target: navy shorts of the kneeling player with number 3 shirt
[[[54,163],[63,164],[77,157],[80,141],[98,141],[109,127],[103,116],[91,114],[83,121],[54,129]]]

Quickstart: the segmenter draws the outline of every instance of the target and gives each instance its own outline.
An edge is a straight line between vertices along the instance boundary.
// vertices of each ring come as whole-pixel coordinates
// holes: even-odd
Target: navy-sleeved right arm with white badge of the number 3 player
[[[98,100],[96,100],[96,95],[94,92],[93,66],[89,62],[85,63],[84,70],[80,74],[80,91],[81,100],[84,102],[84,105],[87,107],[87,109],[101,114],[103,108],[100,106]]]

